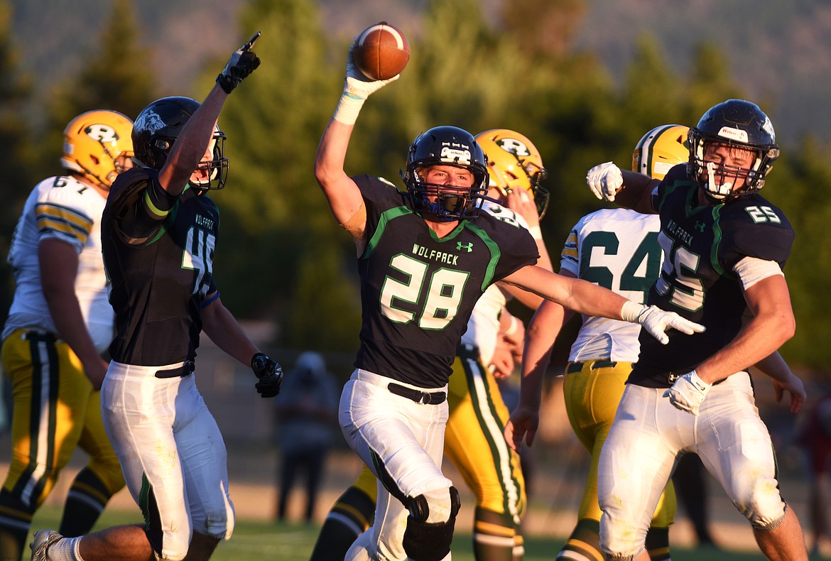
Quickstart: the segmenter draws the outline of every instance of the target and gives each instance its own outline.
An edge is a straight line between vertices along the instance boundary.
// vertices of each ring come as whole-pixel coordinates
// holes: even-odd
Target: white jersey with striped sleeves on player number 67
[[[78,253],[75,293],[86,327],[99,352],[113,337],[115,314],[107,300],[107,279],[101,258],[101,214],[106,199],[72,177],[41,181],[26,199],[8,252],[16,283],[2,338],[18,328],[57,333],[41,284],[37,246],[60,239]]]

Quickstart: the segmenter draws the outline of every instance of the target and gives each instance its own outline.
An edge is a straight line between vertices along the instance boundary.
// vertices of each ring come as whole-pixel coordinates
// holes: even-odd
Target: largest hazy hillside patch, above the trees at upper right
[[[824,0],[589,0],[581,47],[617,76],[639,34],[652,33],[666,60],[689,69],[702,40],[721,47],[735,79],[774,121],[779,142],[814,133],[831,140],[831,3]],[[714,100],[717,102],[720,100]]]

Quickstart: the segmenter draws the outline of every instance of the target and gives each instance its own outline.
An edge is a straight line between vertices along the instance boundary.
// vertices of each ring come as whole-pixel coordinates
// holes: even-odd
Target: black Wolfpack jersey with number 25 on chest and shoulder
[[[701,206],[698,189],[679,165],[652,197],[661,216],[664,261],[649,303],[699,322],[706,331],[671,331],[670,342],[661,345],[642,330],[641,354],[629,376],[640,386],[669,387],[670,375],[690,372],[732,341],[750,317],[735,264],[753,257],[784,267],[794,242],[788,219],[760,194]]]

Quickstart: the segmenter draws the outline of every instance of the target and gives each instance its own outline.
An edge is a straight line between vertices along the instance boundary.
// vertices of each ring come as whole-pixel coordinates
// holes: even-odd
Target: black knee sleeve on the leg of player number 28
[[[404,551],[416,561],[440,561],[450,553],[456,514],[461,501],[459,491],[450,489],[428,491],[408,499],[407,528]]]

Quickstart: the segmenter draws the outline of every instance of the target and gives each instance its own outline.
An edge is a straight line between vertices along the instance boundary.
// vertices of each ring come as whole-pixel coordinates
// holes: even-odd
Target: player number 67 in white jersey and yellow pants
[[[23,206],[8,262],[15,293],[2,332],[12,381],[13,452],[0,490],[0,553],[20,559],[32,514],[77,447],[90,455],[66,497],[61,532],[86,534],[124,487],[101,421],[103,354],[113,312],[101,260],[101,213],[116,176],[132,167],[133,122],[86,111],[63,131],[65,175],[42,180]]]

